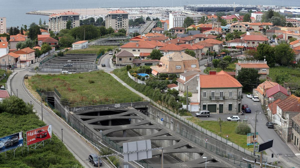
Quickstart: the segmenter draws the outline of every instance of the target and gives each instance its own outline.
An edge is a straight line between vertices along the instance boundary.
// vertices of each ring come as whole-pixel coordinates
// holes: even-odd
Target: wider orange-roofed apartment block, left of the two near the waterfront
[[[66,29],[69,20],[71,21],[71,28],[79,27],[79,13],[67,11],[52,14],[49,16],[49,29],[55,32]]]

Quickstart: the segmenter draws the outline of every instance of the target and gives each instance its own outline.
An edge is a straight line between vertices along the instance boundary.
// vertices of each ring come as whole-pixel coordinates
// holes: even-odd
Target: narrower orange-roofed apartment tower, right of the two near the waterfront
[[[105,27],[112,27],[114,30],[128,28],[128,12],[124,10],[110,11],[105,15]]]

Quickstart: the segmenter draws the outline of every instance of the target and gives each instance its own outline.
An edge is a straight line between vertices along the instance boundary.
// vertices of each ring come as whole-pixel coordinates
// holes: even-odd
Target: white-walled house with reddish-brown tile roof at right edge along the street
[[[292,142],[295,138],[292,138],[292,129],[295,129],[292,118],[300,113],[300,97],[296,97],[293,94],[286,97],[277,103],[276,110],[280,118],[281,138],[283,138],[285,142]]]

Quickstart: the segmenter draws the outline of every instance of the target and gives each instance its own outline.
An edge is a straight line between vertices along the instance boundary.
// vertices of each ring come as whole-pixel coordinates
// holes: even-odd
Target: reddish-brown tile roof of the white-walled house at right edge
[[[300,97],[292,94],[281,100],[277,106],[284,112],[300,112]]]

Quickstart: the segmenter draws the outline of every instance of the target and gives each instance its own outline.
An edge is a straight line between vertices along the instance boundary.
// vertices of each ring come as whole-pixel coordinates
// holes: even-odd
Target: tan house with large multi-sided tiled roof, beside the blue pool
[[[156,77],[159,74],[181,74],[185,71],[201,71],[198,59],[184,52],[173,52],[162,56],[159,64],[150,68],[152,69],[152,75]]]

